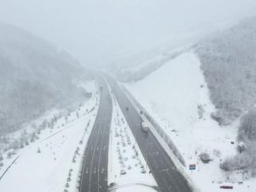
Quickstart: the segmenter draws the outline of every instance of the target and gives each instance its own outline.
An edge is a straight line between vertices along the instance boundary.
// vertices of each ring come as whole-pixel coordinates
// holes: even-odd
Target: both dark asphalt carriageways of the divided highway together
[[[160,192],[192,192],[187,180],[177,171],[171,158],[161,147],[152,132],[145,133],[141,128],[142,119],[116,81],[106,75],[127,123],[137,140],[144,159],[155,178]],[[112,99],[108,85],[103,79],[101,100],[96,122],[84,151],[84,164],[80,180],[80,192],[108,192],[108,144],[112,119]],[[126,108],[129,110],[126,110]]]

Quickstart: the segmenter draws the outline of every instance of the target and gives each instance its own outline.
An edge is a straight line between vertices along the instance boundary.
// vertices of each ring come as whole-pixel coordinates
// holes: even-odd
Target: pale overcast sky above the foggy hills
[[[0,0],[0,20],[92,65],[166,42],[176,46],[255,10],[256,0]]]

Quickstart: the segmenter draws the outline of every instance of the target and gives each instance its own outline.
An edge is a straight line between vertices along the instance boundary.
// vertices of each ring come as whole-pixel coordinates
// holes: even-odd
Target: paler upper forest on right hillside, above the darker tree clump
[[[228,124],[256,102],[256,18],[195,46],[207,79],[214,114]]]

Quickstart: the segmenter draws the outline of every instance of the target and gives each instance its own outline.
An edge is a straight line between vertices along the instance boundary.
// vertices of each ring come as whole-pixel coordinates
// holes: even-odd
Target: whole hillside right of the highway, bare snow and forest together
[[[202,191],[218,191],[226,183],[236,191],[256,187],[255,26],[256,18],[243,20],[125,83],[186,165],[195,163],[195,172],[185,171]]]

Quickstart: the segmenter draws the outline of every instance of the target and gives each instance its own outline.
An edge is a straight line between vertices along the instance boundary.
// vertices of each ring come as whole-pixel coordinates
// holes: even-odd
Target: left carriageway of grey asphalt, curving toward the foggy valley
[[[112,100],[107,84],[102,84],[101,100],[96,122],[84,152],[84,165],[80,180],[80,192],[108,191],[108,143],[112,118]]]

